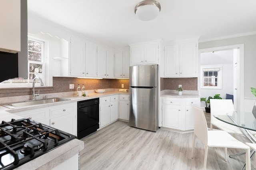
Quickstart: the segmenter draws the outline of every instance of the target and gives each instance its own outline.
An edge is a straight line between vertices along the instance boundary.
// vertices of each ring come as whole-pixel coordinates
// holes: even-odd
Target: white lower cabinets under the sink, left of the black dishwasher
[[[77,104],[69,103],[57,106],[43,107],[13,113],[20,117],[29,118],[42,124],[77,135]]]

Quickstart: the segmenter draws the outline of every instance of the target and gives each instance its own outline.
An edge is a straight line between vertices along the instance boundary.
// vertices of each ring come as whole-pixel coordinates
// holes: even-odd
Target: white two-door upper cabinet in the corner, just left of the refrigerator
[[[115,54],[115,78],[129,78],[130,52],[122,51]]]

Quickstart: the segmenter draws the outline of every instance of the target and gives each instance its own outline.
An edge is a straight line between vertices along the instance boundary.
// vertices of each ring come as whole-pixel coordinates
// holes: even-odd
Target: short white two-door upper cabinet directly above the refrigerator
[[[161,40],[130,45],[131,65],[158,64]]]

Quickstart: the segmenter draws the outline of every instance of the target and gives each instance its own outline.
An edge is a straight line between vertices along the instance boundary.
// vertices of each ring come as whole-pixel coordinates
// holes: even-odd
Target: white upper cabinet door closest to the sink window
[[[70,75],[85,76],[85,47],[82,39],[71,38],[70,42]]]

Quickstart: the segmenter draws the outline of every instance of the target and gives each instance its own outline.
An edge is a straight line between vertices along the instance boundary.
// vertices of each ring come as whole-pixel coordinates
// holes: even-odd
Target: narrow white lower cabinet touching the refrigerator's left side
[[[119,95],[119,119],[129,121],[129,95]]]

